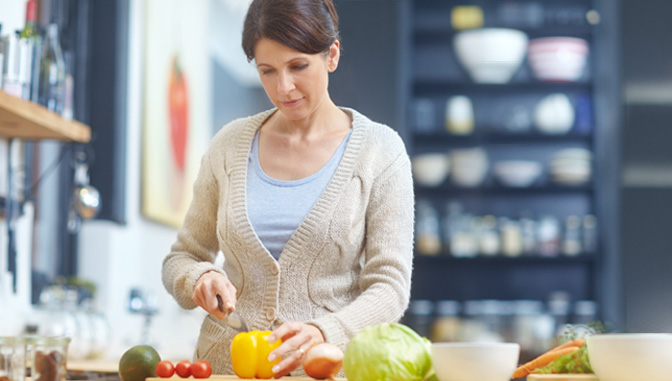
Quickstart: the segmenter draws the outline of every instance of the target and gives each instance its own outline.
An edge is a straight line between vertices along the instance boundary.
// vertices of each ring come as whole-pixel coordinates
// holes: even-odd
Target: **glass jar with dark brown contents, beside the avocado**
[[[31,337],[26,340],[32,381],[65,381],[70,338]]]

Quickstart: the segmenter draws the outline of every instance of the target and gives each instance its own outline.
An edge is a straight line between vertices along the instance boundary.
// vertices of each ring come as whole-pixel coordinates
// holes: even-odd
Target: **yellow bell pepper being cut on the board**
[[[231,342],[231,364],[233,371],[240,378],[272,378],[271,370],[280,362],[268,361],[268,355],[282,344],[278,340],[271,344],[267,341],[271,331],[241,332]]]

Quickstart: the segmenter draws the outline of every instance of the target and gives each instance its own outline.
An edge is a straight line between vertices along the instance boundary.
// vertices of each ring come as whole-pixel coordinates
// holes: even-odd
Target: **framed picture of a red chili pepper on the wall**
[[[144,5],[141,208],[179,227],[212,135],[210,1]]]

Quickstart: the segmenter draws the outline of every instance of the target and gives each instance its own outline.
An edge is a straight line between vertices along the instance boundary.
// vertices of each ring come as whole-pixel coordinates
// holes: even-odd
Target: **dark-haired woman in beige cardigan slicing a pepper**
[[[345,349],[365,326],[401,318],[413,186],[398,134],[329,97],[340,58],[332,0],[254,0],[243,49],[275,108],[213,138],[163,282],[182,307],[210,313],[195,358],[232,373],[237,332],[220,295],[250,329],[283,340],[269,358],[282,358],[280,377],[315,343]]]

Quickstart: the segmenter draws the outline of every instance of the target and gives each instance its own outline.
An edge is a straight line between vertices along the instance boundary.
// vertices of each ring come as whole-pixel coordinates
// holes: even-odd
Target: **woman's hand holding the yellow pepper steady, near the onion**
[[[324,335],[312,324],[298,321],[284,323],[273,331],[268,341],[273,343],[282,339],[282,344],[268,356],[268,361],[282,360],[275,364],[275,378],[286,376],[301,366],[303,355],[315,344],[324,343]]]

